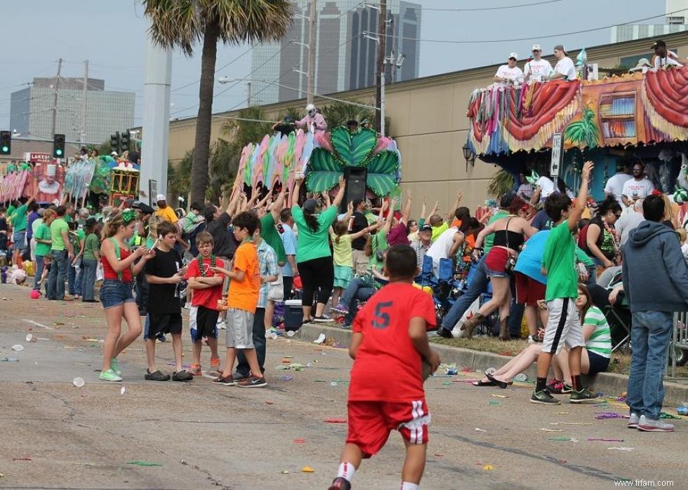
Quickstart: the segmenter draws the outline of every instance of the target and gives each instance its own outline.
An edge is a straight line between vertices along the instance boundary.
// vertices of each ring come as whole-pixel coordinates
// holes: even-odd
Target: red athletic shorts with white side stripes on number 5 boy
[[[347,444],[356,444],[364,458],[383,448],[392,430],[411,444],[428,443],[430,413],[425,400],[408,402],[349,402]]]

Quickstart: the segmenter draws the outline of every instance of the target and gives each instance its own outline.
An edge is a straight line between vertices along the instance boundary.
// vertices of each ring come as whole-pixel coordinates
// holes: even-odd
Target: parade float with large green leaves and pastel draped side
[[[298,172],[305,175],[309,192],[335,191],[339,177],[352,168],[366,175],[370,198],[398,192],[401,154],[395,141],[375,130],[350,132],[343,126],[331,132],[303,132],[265,135],[260,143],[244,147],[239,160],[235,189],[270,188],[275,184],[293,187]]]

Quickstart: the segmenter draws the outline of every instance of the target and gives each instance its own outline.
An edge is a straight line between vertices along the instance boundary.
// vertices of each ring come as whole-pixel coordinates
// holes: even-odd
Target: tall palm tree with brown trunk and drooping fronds
[[[151,20],[150,36],[164,48],[191,56],[203,43],[191,200],[203,200],[209,181],[208,159],[218,41],[225,44],[278,41],[289,28],[289,0],[143,0]]]

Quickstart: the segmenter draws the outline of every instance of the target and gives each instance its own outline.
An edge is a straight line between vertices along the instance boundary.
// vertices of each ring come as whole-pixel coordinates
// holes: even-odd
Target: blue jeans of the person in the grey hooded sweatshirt
[[[630,341],[633,357],[628,376],[626,404],[633,414],[658,420],[664,400],[662,379],[666,372],[673,313],[637,311],[633,313]]]

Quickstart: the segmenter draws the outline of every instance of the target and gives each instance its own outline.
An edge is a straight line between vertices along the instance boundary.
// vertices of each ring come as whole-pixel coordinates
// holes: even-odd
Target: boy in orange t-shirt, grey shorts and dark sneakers
[[[260,372],[256,349],[253,347],[253,315],[256,313],[260,294],[260,264],[258,251],[253,243],[253,232],[258,228],[258,216],[252,212],[241,212],[232,220],[234,238],[241,245],[234,252],[232,271],[211,267],[210,270],[230,278],[227,293],[227,360],[225,370],[213,381],[225,386],[241,388],[263,388],[267,386],[265,376]],[[249,362],[251,374],[238,383],[232,377],[237,349],[242,349]]]

